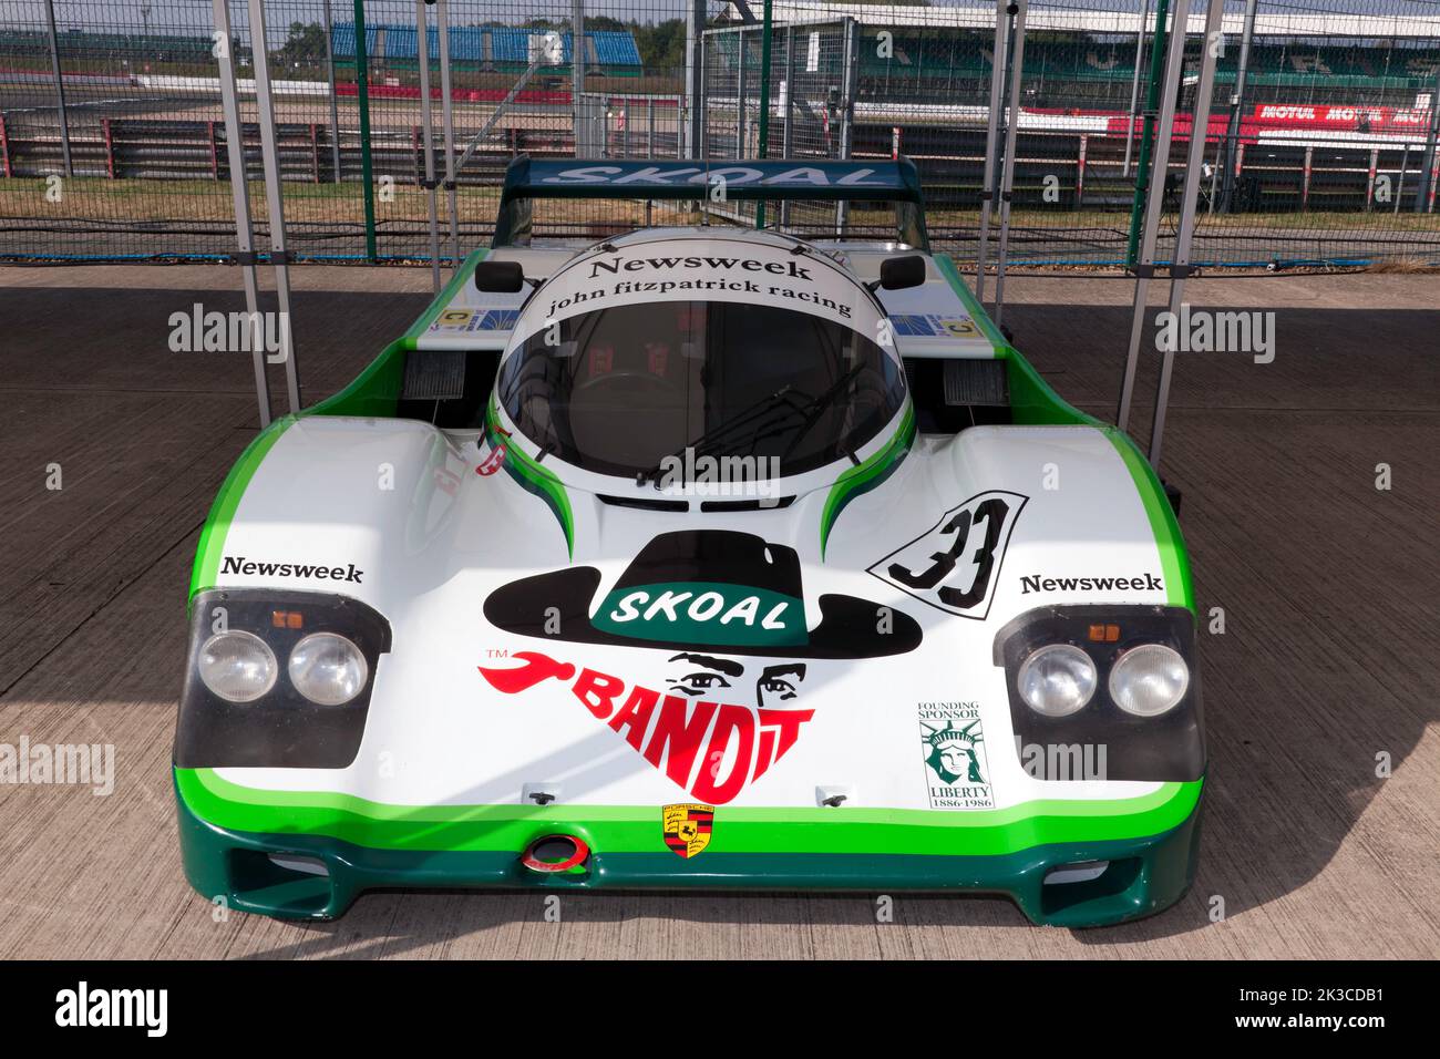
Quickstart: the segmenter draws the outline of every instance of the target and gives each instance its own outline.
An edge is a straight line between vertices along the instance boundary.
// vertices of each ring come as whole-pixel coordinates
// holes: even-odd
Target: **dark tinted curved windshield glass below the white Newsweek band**
[[[531,334],[497,386],[536,445],[631,478],[685,450],[801,474],[854,454],[904,401],[899,363],[864,334],[737,301],[572,316]]]

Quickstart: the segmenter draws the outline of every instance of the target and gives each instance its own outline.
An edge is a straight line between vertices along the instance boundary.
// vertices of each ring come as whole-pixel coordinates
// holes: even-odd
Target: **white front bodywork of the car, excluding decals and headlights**
[[[573,692],[573,680],[544,680],[507,694],[480,670],[518,667],[517,653],[539,651],[576,673],[590,667],[624,680],[626,689],[664,693],[684,669],[671,661],[674,650],[516,635],[490,624],[484,604],[521,578],[593,566],[600,572],[589,601],[595,618],[609,586],[647,542],[703,526],[795,549],[809,628],[819,620],[816,599],[842,592],[909,614],[923,630],[920,645],[904,654],[799,658],[804,677],[788,677],[793,697],[772,702],[772,709],[811,715],[796,725],[798,736],[783,756],[762,775],[755,746],[744,762],[732,752],[691,769],[698,775],[708,767],[713,778],[744,769],[746,782],[726,804],[811,807],[818,788],[844,788],[852,792],[850,805],[937,808],[929,748],[922,743],[924,716],[979,719],[988,779],[965,795],[971,808],[1136,797],[1158,787],[1041,782],[1028,775],[1014,746],[1005,674],[992,661],[996,630],[1035,607],[1166,602],[1142,500],[1123,460],[1097,429],[978,426],[953,438],[917,438],[881,487],[842,510],[824,558],[819,526],[828,488],[804,493],[785,509],[700,514],[615,507],[570,487],[572,556],[560,522],[541,499],[508,474],[477,474],[487,455],[488,445],[474,432],[445,434],[413,421],[310,416],[279,437],[245,490],[223,542],[225,558],[354,565],[360,581],[337,586],[226,573],[222,563],[219,586],[341,591],[390,621],[393,645],[379,661],[353,765],[225,768],[223,778],[400,805],[517,804],[527,784],[556,782],[572,804],[658,805],[698,797],[697,782],[671,779],[592,712]],[[1058,468],[1058,488],[1045,487],[1051,467]],[[383,468],[393,473],[393,488],[383,487]],[[926,552],[926,535],[936,533],[948,513],[995,491],[1012,499],[1012,510],[1008,545],[982,607],[958,614],[887,576],[886,563]],[[966,576],[973,579],[973,568],[962,562],[946,582],[963,586]],[[1053,582],[1061,578],[1125,578],[1130,586],[1056,589]],[[1053,591],[1041,588],[1047,579]],[[757,660],[726,657],[744,666],[744,679],[711,697],[750,710],[755,719],[762,696]]]

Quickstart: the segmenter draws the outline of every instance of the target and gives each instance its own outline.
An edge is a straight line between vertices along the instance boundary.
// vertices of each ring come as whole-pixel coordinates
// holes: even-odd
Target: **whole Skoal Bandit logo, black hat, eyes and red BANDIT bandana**
[[[491,592],[485,618],[534,647],[480,674],[503,694],[560,692],[684,791],[723,805],[802,736],[815,666],[920,643],[903,612],[880,631],[878,604],[824,595],[818,609],[809,628],[792,549],[729,530],[667,533],[603,594],[588,566]]]

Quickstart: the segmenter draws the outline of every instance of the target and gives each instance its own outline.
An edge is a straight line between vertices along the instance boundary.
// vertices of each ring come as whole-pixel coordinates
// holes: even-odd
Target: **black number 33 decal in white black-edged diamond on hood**
[[[891,552],[870,573],[949,614],[989,612],[995,575],[1028,497],[992,490],[948,510],[927,532]]]

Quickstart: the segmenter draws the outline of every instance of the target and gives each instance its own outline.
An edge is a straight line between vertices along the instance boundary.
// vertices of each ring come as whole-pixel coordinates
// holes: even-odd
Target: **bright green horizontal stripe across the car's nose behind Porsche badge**
[[[321,834],[403,850],[523,849],[537,828],[582,834],[611,853],[655,849],[658,805],[386,805],[350,794],[268,791],[177,768],[184,804],[226,830]],[[719,807],[711,849],[732,853],[1004,854],[1060,841],[1159,834],[1200,801],[1201,779],[1162,784],[1138,798],[1040,800],[1002,810]]]

